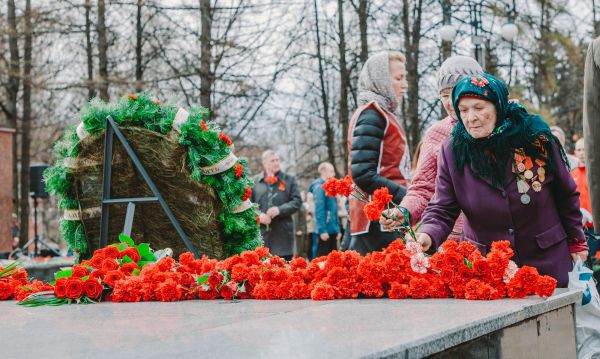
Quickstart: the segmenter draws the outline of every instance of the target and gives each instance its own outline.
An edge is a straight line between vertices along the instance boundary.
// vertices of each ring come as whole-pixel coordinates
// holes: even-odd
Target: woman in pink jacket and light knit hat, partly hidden
[[[406,196],[400,206],[410,213],[412,225],[417,224],[423,217],[427,204],[435,191],[435,178],[437,177],[437,158],[442,148],[442,143],[450,136],[452,129],[458,121],[452,107],[452,88],[456,83],[467,77],[483,72],[477,61],[468,56],[452,56],[442,63],[438,71],[437,82],[440,100],[448,116],[431,126],[421,142],[421,151],[418,162],[415,163],[416,171],[411,180]],[[416,154],[415,154],[415,157]],[[459,216],[451,239],[460,239],[462,233],[463,216]]]

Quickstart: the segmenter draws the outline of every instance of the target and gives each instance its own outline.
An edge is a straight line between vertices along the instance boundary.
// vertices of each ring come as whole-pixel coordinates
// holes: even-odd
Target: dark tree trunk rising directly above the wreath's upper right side
[[[212,64],[212,8],[210,0],[200,0],[200,104],[211,110],[211,93],[213,87],[213,74],[210,70]],[[211,111],[210,118],[214,115]]]

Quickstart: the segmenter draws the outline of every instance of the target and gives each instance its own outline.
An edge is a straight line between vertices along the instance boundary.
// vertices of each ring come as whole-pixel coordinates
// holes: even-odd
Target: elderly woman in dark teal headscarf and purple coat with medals
[[[517,264],[566,286],[571,260],[585,260],[587,245],[558,140],[539,116],[509,103],[508,88],[494,76],[459,81],[452,103],[458,123],[442,146],[436,191],[416,240],[424,250],[439,247],[462,210],[465,240],[484,253],[493,241],[508,240]]]

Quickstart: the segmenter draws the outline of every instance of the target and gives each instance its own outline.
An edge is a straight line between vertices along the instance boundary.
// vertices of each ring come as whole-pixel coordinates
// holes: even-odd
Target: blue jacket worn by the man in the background
[[[337,199],[325,196],[323,183],[325,180],[319,177],[308,189],[315,199],[315,233],[340,233]]]

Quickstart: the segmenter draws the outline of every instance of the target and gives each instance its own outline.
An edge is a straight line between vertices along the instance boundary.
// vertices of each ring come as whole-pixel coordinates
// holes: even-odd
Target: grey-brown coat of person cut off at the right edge
[[[585,163],[596,233],[600,226],[600,37],[588,47],[583,75]]]

